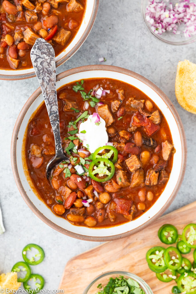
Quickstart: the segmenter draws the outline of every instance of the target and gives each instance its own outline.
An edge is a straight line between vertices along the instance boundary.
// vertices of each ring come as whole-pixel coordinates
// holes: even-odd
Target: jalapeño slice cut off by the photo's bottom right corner
[[[196,294],[196,274],[188,272],[180,275],[177,280],[177,287],[182,293]]]

